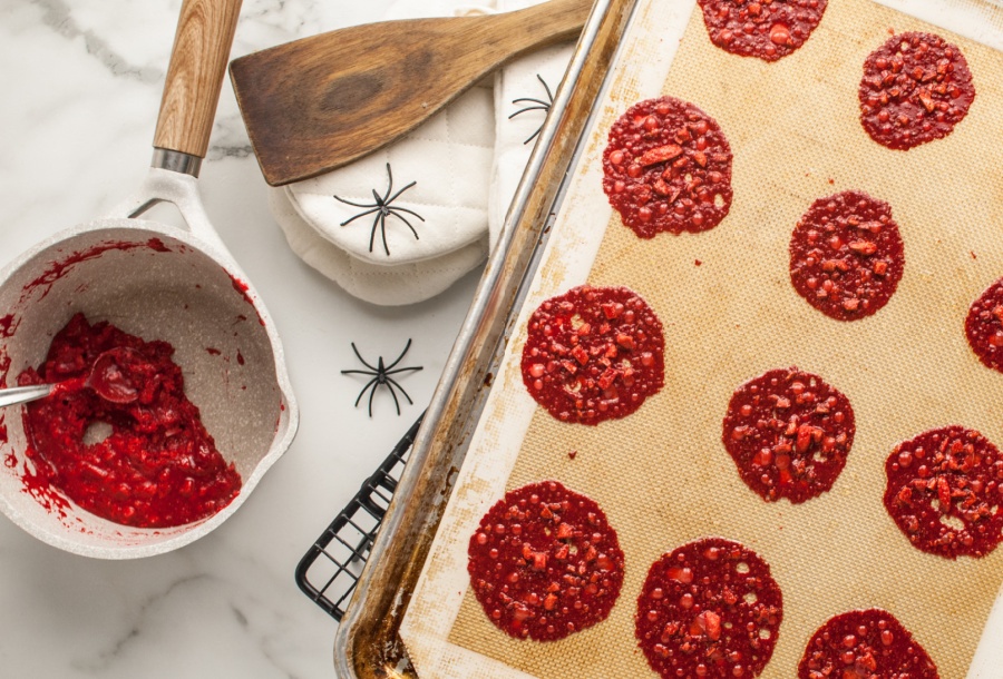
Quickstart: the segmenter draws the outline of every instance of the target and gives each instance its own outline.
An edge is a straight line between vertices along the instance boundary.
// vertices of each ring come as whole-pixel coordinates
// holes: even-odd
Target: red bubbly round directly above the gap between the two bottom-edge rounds
[[[818,375],[773,370],[736,390],[721,440],[746,485],[795,504],[832,488],[854,444],[854,409]]]

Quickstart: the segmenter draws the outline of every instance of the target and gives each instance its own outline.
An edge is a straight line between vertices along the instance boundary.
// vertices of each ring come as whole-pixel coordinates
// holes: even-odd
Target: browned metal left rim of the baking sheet
[[[582,130],[592,119],[591,108],[605,90],[607,67],[615,60],[620,38],[631,23],[635,6],[636,0],[596,0],[568,67],[565,82],[571,86],[562,85],[555,94],[506,227],[488,260],[382,530],[335,633],[334,669],[342,679],[416,676],[397,628],[410,588],[423,565],[422,547],[427,553],[477,423],[478,405],[483,405],[488,392],[490,370],[512,332],[512,314],[519,308],[524,282],[530,279],[539,246],[546,242],[551,209],[561,193],[563,177],[574,163]],[[590,80],[590,75],[595,78]],[[574,130],[576,125],[580,129]],[[476,397],[475,405],[465,403],[467,394]],[[427,512],[416,510],[416,504]],[[409,570],[410,579],[400,574]]]

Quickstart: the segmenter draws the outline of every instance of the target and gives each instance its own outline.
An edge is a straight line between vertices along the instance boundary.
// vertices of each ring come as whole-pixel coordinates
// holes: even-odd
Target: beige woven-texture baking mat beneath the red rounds
[[[990,16],[982,28],[1000,26]],[[933,31],[958,45],[977,92],[950,137],[908,152],[878,146],[858,120],[860,65],[889,30]],[[568,203],[601,196],[595,149],[615,115],[651,96],[630,78],[620,87],[591,139],[585,164],[593,166],[580,170],[594,183],[576,184]],[[695,10],[661,91],[697,104],[728,135],[730,215],[703,234],[652,240],[637,239],[616,216],[584,232],[601,242],[587,281],[633,288],[664,323],[665,387],[633,415],[596,427],[530,406],[526,429],[523,337],[515,337],[405,620],[419,675],[654,676],[633,631],[647,569],[684,542],[720,535],[766,559],[783,592],[783,623],[762,677],[795,677],[826,619],[873,606],[913,631],[941,677],[964,677],[1003,581],[1003,549],[953,562],[912,548],[882,503],[884,461],[899,441],[954,423],[1003,445],[1003,375],[978,363],[964,335],[968,305],[1003,275],[1003,55],[869,0],[830,0],[805,47],[767,65],[713,47]],[[816,198],[845,189],[892,205],[906,257],[889,304],[854,323],[815,311],[788,276],[798,218]],[[575,226],[565,219],[558,229],[566,233],[555,237],[592,237]],[[580,282],[552,245],[529,306]],[[846,394],[857,420],[832,490],[797,506],[750,491],[721,444],[733,390],[791,365]],[[577,451],[573,460],[569,451]],[[606,510],[626,577],[605,622],[559,642],[516,641],[467,590],[466,544],[506,488],[548,478]]]

